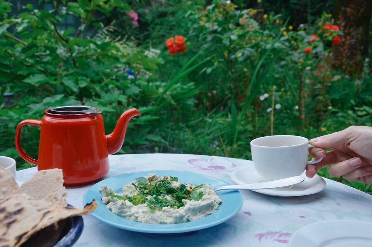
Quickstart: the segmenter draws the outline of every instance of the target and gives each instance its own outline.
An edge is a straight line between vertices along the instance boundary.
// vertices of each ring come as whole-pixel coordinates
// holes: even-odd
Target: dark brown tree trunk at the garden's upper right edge
[[[368,54],[371,0],[335,0],[335,24],[343,35],[334,46],[334,67],[353,76],[360,76]]]

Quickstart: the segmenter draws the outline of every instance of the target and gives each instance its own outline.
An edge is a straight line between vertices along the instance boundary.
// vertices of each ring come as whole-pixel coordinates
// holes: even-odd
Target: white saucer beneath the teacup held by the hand
[[[305,178],[301,184],[296,184],[288,188],[277,188],[277,189],[264,189],[264,190],[252,190],[261,194],[270,196],[306,196],[314,193],[318,193],[325,188],[324,179],[315,175],[314,178],[308,178],[305,172],[302,174]],[[231,179],[237,184],[251,184],[269,181],[258,175],[254,165],[242,166],[235,169],[231,173]]]

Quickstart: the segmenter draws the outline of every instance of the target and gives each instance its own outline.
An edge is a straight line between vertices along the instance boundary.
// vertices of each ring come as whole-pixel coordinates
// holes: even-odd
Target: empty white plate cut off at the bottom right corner
[[[371,247],[372,222],[321,221],[306,225],[289,239],[290,247]]]

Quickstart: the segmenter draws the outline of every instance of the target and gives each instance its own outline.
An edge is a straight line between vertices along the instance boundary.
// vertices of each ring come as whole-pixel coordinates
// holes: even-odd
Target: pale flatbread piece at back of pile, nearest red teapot
[[[67,191],[63,186],[62,169],[48,169],[36,172],[12,194],[26,193],[35,200],[44,200],[67,206]]]

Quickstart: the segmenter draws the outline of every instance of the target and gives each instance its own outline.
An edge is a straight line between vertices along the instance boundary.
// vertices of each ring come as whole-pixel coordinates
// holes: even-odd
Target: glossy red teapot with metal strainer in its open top
[[[124,112],[111,134],[105,135],[101,112],[91,106],[46,107],[41,120],[26,119],[16,130],[19,155],[38,170],[60,168],[64,185],[87,184],[105,176],[110,169],[109,154],[123,145],[128,122],[140,112],[133,108]],[[40,126],[38,160],[29,157],[21,146],[23,125]]]

